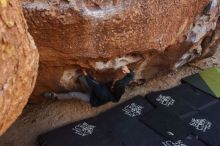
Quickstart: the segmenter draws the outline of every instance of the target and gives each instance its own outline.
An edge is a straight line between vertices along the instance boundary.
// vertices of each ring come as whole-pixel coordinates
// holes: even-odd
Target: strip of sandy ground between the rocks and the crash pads
[[[176,72],[157,77],[144,85],[130,87],[121,102],[135,95],[145,95],[153,90],[171,88],[180,84],[180,79],[212,66],[220,67],[220,49],[208,59],[186,65]],[[116,104],[109,103],[99,108],[91,108],[80,101],[47,101],[28,104],[13,126],[0,137],[0,146],[37,146],[39,134],[64,124],[97,115]]]

